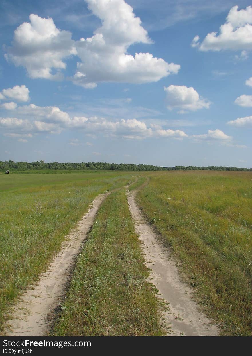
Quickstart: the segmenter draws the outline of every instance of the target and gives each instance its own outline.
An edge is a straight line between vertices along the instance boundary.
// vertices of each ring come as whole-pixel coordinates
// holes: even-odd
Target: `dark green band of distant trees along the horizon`
[[[76,169],[76,170],[112,170],[112,171],[252,171],[252,168],[239,167],[194,167],[194,166],[175,166],[175,167],[158,167],[149,164],[130,164],[130,163],[106,163],[106,162],[88,162],[88,163],[59,163],[44,161],[36,162],[14,162],[0,161],[0,170],[4,171],[30,171],[36,169]]]

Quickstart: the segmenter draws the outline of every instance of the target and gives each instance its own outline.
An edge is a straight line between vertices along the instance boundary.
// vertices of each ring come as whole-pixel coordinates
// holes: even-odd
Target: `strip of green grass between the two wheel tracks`
[[[52,335],[164,335],[125,190],[101,205]]]

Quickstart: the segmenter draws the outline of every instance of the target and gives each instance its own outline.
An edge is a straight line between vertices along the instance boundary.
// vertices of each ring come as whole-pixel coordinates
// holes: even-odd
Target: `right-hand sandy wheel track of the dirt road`
[[[147,183],[147,182],[146,182]],[[145,183],[145,184],[146,184]],[[152,269],[149,281],[160,291],[160,298],[169,303],[165,312],[166,324],[171,327],[169,335],[210,336],[218,335],[218,328],[200,313],[192,298],[193,290],[182,282],[175,260],[162,237],[147,222],[137,206],[136,190],[127,190],[127,200],[135,220],[136,232],[140,235],[147,266]]]

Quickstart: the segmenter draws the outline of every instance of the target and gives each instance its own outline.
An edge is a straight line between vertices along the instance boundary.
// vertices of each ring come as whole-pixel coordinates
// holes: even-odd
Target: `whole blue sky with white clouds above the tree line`
[[[252,167],[248,1],[0,6],[0,160]]]

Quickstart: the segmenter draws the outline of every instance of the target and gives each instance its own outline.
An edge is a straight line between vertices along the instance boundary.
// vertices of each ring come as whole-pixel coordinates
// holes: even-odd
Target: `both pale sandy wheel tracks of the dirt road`
[[[127,186],[126,186],[127,188]],[[41,274],[34,289],[26,290],[13,307],[12,319],[5,331],[9,336],[47,335],[54,323],[56,310],[64,299],[75,261],[93,225],[95,215],[110,193],[100,194],[88,213],[79,221],[62,244],[46,273]],[[167,246],[144,218],[135,201],[136,192],[127,190],[127,200],[136,231],[142,241],[147,266],[152,269],[150,281],[159,289],[170,307],[164,318],[171,326],[169,335],[217,335],[218,329],[200,313],[192,299],[192,290],[179,277]]]

